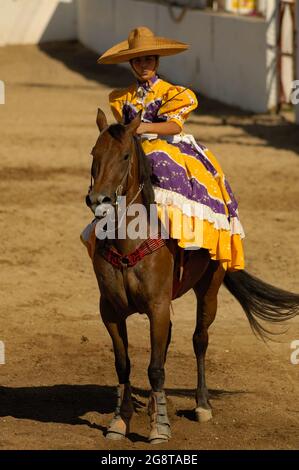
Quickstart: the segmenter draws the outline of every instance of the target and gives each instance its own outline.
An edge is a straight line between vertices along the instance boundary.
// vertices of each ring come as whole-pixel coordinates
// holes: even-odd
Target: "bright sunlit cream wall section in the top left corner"
[[[0,46],[77,37],[76,0],[0,0]]]

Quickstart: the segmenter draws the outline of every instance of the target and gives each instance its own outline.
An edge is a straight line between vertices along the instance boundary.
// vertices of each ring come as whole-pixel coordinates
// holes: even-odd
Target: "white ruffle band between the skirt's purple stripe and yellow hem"
[[[241,238],[245,237],[242,224],[237,217],[232,217],[229,222],[226,215],[216,214],[210,207],[200,202],[190,201],[190,199],[174,191],[154,186],[154,192],[157,204],[175,206],[187,217],[197,217],[200,220],[207,220],[212,223],[217,230],[229,230],[232,235],[240,235]]]

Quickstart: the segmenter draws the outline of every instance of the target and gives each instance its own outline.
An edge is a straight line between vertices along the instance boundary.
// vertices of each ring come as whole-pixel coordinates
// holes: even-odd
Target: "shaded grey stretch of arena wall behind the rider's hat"
[[[161,73],[171,80],[255,112],[275,105],[265,20],[192,10],[175,23],[168,8],[156,3],[78,0],[79,40],[99,53],[125,39],[137,25],[190,43],[190,51],[161,61]]]

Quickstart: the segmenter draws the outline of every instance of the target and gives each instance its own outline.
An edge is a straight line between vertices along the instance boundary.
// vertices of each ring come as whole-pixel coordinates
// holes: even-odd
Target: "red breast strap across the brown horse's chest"
[[[113,246],[104,245],[101,250],[101,255],[105,258],[108,263],[112,264],[115,268],[131,268],[141,261],[146,255],[150,255],[154,251],[159,250],[165,245],[165,240],[160,236],[158,238],[148,238],[144,240],[136,250],[123,255],[117,251]]]

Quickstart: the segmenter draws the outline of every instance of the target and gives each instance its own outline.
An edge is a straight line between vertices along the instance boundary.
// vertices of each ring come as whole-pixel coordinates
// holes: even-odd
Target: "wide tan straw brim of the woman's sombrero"
[[[99,59],[98,64],[121,64],[128,62],[135,57],[144,55],[169,56],[184,52],[189,48],[188,44],[178,41],[169,41],[164,38],[157,38],[155,44],[140,48],[129,49],[128,41],[123,41],[111,49],[108,49]]]

